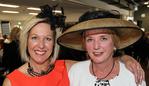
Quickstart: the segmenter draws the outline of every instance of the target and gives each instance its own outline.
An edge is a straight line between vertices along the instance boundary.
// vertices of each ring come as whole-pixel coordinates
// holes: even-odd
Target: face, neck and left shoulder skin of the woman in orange
[[[53,31],[50,28],[49,24],[39,23],[31,29],[28,36],[29,62],[36,72],[41,72],[41,70],[46,71],[49,68],[54,46]],[[18,70],[31,77],[27,73],[27,68],[28,63],[25,63]],[[3,86],[11,86],[8,78],[4,80]]]

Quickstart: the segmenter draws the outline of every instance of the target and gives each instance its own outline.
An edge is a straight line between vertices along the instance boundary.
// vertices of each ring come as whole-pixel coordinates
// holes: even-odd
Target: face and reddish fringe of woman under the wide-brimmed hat
[[[105,29],[86,31],[85,48],[90,59],[95,63],[110,60],[114,50],[112,34]]]

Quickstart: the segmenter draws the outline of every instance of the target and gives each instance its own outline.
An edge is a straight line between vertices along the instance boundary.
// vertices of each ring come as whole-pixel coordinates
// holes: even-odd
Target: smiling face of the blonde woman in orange
[[[49,61],[53,46],[53,31],[49,24],[39,23],[31,29],[28,37],[30,60],[39,64]]]

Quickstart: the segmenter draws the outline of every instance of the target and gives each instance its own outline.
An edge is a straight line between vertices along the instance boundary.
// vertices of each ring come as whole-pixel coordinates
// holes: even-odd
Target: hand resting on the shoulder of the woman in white
[[[136,83],[141,84],[142,80],[145,80],[145,72],[139,62],[128,55],[122,56],[121,60],[124,62],[126,68],[134,74]]]

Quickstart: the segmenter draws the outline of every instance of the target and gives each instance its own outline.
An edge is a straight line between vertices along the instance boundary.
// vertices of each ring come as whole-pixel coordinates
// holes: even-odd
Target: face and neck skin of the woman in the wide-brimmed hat
[[[104,77],[109,73],[112,68],[113,62],[113,52],[114,52],[114,42],[111,34],[104,32],[105,30],[89,30],[85,33],[85,48],[86,51],[92,60],[92,66],[90,66],[90,72],[95,72],[97,77]],[[116,63],[114,69],[111,72],[111,75],[118,74],[118,64]],[[111,75],[105,79],[112,78]]]

